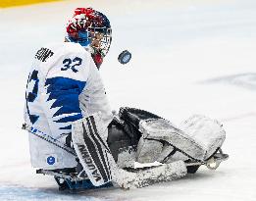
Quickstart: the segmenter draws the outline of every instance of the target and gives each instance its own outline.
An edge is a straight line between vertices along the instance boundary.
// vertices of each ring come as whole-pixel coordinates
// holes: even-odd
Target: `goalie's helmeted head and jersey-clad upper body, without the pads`
[[[36,52],[26,84],[26,126],[34,133],[72,145],[72,123],[100,113],[102,138],[113,115],[98,69],[111,44],[107,17],[77,8],[67,25],[65,42]],[[29,134],[31,164],[47,170],[77,167],[77,157]]]

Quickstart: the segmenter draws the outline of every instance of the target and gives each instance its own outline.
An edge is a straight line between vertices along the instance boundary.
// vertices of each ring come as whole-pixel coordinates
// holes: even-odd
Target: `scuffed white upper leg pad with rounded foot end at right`
[[[211,157],[225,140],[223,127],[204,116],[193,116],[180,128],[164,119],[140,121],[139,129],[144,139],[165,141],[200,162]]]

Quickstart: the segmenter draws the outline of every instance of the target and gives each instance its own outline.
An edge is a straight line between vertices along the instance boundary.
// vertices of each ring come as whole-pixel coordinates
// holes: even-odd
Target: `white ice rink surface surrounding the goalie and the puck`
[[[0,10],[1,200],[256,200],[256,2],[254,0],[64,1]],[[146,3],[145,3],[146,2]],[[113,109],[148,110],[179,125],[192,114],[219,120],[230,159],[215,171],[142,189],[59,194],[30,168],[21,129],[35,51],[62,41],[73,9],[106,13],[113,44],[101,69]],[[132,59],[120,65],[128,49]]]

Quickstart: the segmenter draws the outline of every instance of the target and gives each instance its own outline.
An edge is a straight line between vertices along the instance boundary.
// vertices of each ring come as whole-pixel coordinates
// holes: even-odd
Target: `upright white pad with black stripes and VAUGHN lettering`
[[[80,164],[95,186],[111,181],[113,159],[104,139],[100,114],[85,117],[73,124],[72,138]],[[114,160],[114,159],[113,159]]]

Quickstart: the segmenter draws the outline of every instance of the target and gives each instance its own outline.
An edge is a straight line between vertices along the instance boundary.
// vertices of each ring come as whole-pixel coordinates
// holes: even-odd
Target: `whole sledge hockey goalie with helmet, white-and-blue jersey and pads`
[[[129,188],[195,173],[210,159],[221,161],[225,130],[216,121],[193,116],[177,127],[139,109],[111,112],[99,75],[111,40],[105,15],[77,8],[65,42],[36,52],[24,125],[32,167],[55,176],[63,188],[88,179],[94,186],[113,182]],[[135,170],[134,162],[159,166]]]

